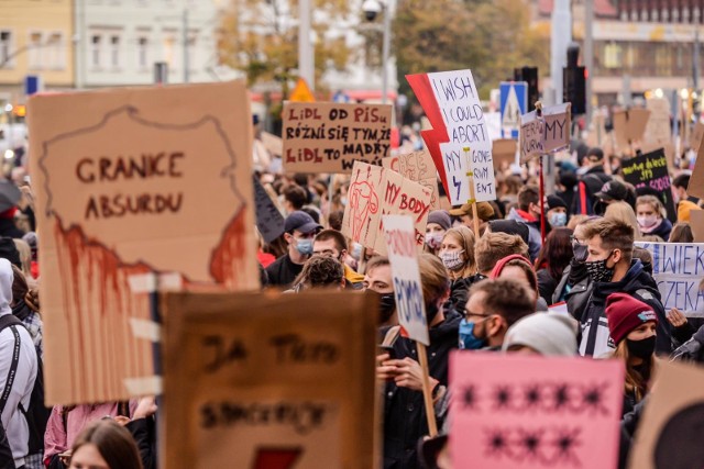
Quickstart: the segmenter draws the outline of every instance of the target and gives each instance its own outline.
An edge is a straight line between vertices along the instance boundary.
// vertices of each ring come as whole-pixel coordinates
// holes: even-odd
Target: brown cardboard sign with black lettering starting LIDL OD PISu
[[[355,160],[382,164],[391,149],[391,104],[287,102],[284,170],[350,174]]]

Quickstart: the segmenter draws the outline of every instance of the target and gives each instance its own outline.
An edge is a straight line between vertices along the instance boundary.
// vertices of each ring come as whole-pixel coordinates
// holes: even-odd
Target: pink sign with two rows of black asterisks
[[[455,351],[450,389],[455,468],[617,465],[622,362]]]

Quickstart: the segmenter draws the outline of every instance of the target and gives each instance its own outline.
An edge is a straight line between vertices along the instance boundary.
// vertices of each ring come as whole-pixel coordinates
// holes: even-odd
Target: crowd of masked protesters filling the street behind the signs
[[[409,129],[402,137],[399,152],[422,146]],[[704,360],[704,328],[666,310],[652,259],[635,244],[693,242],[690,214],[702,201],[688,193],[690,172],[672,175],[673,224],[662,193],[629,186],[614,170],[618,165],[605,165],[602,149],[581,145],[559,160],[557,190],[543,200],[531,164],[497,171],[495,201],[429,213],[418,264],[440,436],[427,439],[424,375],[415,343],[398,325],[389,259],[341,233],[344,208],[353,203],[349,177],[287,176],[273,170],[280,168],[276,155],[261,142],[255,148],[255,177],[285,215],[277,239],[260,238],[262,288],[378,298],[384,468],[451,467],[448,358],[454,349],[623,361],[622,466],[658,362]],[[18,176],[0,182],[9,200],[0,212],[0,469],[156,467],[153,398],[42,405],[41,239],[32,191]],[[561,303],[566,312],[554,308]]]

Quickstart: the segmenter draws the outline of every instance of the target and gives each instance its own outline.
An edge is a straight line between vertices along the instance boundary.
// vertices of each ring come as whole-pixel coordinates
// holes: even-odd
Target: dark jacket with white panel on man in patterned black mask
[[[656,350],[670,354],[672,351],[672,334],[658,284],[644,270],[640,259],[634,259],[628,272],[620,281],[594,282],[587,278],[575,284],[568,293],[568,311],[580,322],[582,327],[580,355],[603,357],[616,348],[609,336],[606,320],[606,298],[616,292],[630,294],[652,308],[658,315]]]

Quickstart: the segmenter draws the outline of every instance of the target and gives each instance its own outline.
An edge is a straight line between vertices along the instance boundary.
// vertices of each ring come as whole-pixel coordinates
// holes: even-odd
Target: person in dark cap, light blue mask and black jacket
[[[286,254],[266,268],[272,286],[288,288],[304,269],[304,264],[312,255],[312,239],[322,230],[306,212],[293,212],[284,221],[284,239],[288,245]]]

